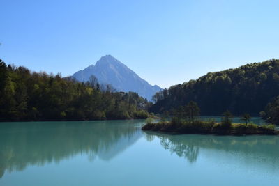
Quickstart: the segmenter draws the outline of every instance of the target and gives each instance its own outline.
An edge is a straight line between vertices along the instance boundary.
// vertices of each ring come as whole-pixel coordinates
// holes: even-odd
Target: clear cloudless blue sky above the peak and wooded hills
[[[111,54],[165,88],[279,58],[279,1],[1,0],[0,58],[72,75]]]

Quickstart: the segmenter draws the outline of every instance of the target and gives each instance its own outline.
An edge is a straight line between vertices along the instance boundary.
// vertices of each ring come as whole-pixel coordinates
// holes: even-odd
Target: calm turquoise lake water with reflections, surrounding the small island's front
[[[169,135],[143,123],[0,123],[0,185],[279,183],[277,136]]]

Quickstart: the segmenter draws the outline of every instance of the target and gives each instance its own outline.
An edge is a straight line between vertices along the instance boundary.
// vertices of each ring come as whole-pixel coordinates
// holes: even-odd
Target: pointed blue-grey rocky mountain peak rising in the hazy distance
[[[96,65],[90,65],[84,70],[76,72],[73,77],[77,81],[86,82],[89,81],[91,75],[95,76],[100,84],[111,84],[117,91],[133,91],[148,100],[162,90],[157,85],[151,86],[111,55],[101,57]]]

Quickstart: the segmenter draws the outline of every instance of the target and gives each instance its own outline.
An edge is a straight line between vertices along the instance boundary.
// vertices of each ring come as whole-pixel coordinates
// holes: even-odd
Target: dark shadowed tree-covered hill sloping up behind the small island
[[[279,60],[250,63],[239,68],[209,72],[199,79],[156,93],[149,109],[162,113],[195,101],[204,116],[220,116],[229,110],[236,116],[259,116],[266,104],[279,95]]]

